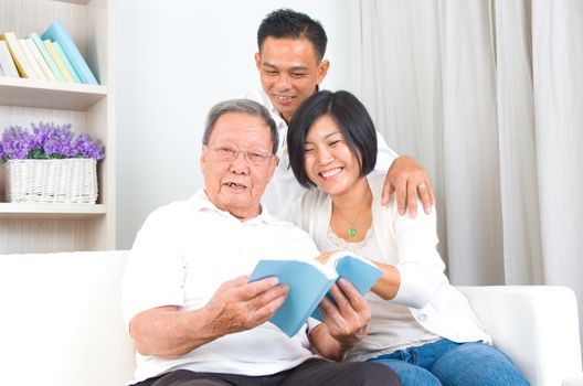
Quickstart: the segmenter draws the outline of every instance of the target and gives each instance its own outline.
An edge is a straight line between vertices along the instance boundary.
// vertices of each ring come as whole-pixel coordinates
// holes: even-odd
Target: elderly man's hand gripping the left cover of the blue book
[[[266,322],[284,303],[288,288],[276,278],[247,282],[242,276],[224,282],[205,309],[218,335],[246,331]]]

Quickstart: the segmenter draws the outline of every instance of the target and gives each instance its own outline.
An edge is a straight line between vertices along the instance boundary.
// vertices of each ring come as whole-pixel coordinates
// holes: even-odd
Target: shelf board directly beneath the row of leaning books
[[[0,77],[0,105],[86,111],[107,95],[107,87],[54,81]]]

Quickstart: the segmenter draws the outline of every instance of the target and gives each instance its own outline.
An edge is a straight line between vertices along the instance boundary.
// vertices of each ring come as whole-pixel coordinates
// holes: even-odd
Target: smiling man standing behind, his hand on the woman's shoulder
[[[247,97],[262,103],[271,112],[279,131],[279,164],[267,187],[263,204],[269,212],[283,215],[304,189],[288,168],[286,133],[296,109],[310,95],[318,92],[330,66],[324,60],[328,37],[321,24],[304,13],[279,9],[263,20],[257,31],[258,53],[255,63],[259,72],[263,92]],[[434,203],[427,172],[413,158],[398,157],[379,138],[377,172],[386,173],[383,204],[396,192],[399,212],[406,206],[412,217],[416,214],[417,194],[425,212]],[[389,168],[390,167],[390,168]]]

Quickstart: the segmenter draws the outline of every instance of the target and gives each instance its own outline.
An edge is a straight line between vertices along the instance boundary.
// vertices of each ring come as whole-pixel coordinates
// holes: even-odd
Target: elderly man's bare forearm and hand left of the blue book
[[[199,310],[159,307],[138,313],[129,332],[142,355],[174,358],[226,334],[266,322],[284,303],[287,287],[276,278],[247,282],[242,276],[223,283]]]

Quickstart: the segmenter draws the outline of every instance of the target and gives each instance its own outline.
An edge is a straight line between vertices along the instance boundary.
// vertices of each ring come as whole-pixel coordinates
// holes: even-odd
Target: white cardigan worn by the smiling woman
[[[381,205],[384,174],[369,174],[373,194],[372,221],[382,256],[367,256],[375,261],[392,264],[401,274],[401,286],[394,299],[406,305],[413,317],[428,331],[454,342],[490,342],[467,299],[445,276],[445,264],[436,250],[435,208],[425,214],[420,204],[416,218],[399,215],[395,200]],[[288,215],[293,223],[308,232],[320,251],[328,237],[332,202],[328,194],[306,192]],[[496,312],[496,310],[492,310]],[[374,318],[374,314],[372,315]]]

